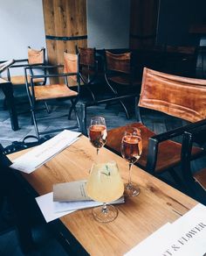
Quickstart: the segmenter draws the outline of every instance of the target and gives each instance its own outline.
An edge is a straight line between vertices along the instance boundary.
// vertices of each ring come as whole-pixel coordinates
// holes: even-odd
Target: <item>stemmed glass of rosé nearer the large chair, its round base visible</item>
[[[127,126],[121,139],[120,152],[122,157],[127,160],[129,166],[129,178],[125,185],[125,196],[138,196],[140,188],[132,182],[131,172],[134,163],[140,159],[142,152],[141,130],[135,127]]]

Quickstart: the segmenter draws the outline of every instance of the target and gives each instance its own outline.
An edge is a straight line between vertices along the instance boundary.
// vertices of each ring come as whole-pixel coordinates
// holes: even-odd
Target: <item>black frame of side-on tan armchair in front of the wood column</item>
[[[26,78],[26,90],[27,90],[27,94],[28,94],[28,97],[29,97],[29,101],[30,101],[30,104],[31,104],[31,117],[32,117],[32,120],[33,120],[33,124],[34,124],[34,127],[35,127],[35,132],[39,138],[39,135],[43,135],[43,134],[47,134],[47,133],[53,133],[53,132],[60,132],[64,129],[76,129],[78,128],[80,130],[80,123],[79,123],[79,117],[78,117],[78,113],[77,113],[77,109],[76,109],[76,104],[78,103],[79,101],[79,89],[80,89],[80,77],[79,77],[79,72],[78,73],[56,73],[56,74],[46,74],[46,72],[49,72],[48,70],[52,70],[53,68],[64,68],[63,65],[56,65],[56,66],[30,66],[30,67],[26,67],[24,68],[24,74],[25,74],[25,78]],[[34,75],[33,74],[33,70],[34,69],[42,69],[44,70],[44,75]],[[28,72],[30,72],[30,75],[31,75],[31,83],[29,83],[27,81],[27,74]],[[68,77],[69,76],[72,76],[72,75],[76,75],[77,76],[77,85],[78,85],[78,96],[70,96],[68,97],[72,103],[72,106],[70,107],[70,110],[69,110],[69,113],[68,115],[63,115],[63,116],[57,116],[57,117],[68,117],[68,119],[71,118],[71,115],[72,115],[72,110],[74,110],[74,114],[75,114],[75,117],[77,119],[77,125],[74,125],[74,126],[69,126],[69,127],[65,127],[64,129],[61,128],[61,129],[55,129],[55,130],[52,130],[52,131],[47,131],[47,132],[39,132],[38,131],[38,124],[37,124],[37,120],[43,120],[43,119],[50,119],[50,118],[57,118],[57,117],[44,117],[44,118],[36,118],[36,114],[35,114],[35,110],[36,110],[36,100],[35,100],[35,91],[34,91],[34,87],[35,86],[38,86],[38,85],[35,85],[35,82],[33,82],[33,80],[35,79],[38,79],[38,78],[64,78],[65,80],[65,84],[68,88],[69,87],[69,82],[68,82]],[[29,87],[31,86],[31,90],[29,89]],[[50,113],[50,112],[49,112]]]

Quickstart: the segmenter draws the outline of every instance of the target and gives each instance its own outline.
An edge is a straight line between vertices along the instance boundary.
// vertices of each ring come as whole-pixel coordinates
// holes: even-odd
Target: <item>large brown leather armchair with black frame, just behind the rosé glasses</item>
[[[169,132],[155,135],[141,118],[141,110],[157,110],[169,116],[179,117],[193,124],[187,124]],[[144,68],[141,96],[136,108],[137,123],[130,124],[141,129],[143,153],[138,161],[143,169],[154,175],[168,171],[174,180],[181,183],[174,167],[181,163],[182,144],[174,140],[189,129],[196,128],[206,118],[206,81],[168,75]],[[120,154],[120,142],[126,126],[108,131],[106,146]],[[191,158],[203,152],[192,147]]]

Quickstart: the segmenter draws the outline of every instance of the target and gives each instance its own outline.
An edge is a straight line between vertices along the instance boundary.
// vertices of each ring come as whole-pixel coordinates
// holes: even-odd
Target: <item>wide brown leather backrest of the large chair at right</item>
[[[206,118],[206,80],[144,68],[139,106],[189,122]]]

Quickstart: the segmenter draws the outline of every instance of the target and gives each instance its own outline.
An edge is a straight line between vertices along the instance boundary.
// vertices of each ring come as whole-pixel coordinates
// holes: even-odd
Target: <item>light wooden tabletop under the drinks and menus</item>
[[[15,153],[12,159],[20,155]],[[58,182],[86,179],[96,157],[96,150],[83,135],[72,146],[31,174],[23,174],[39,195],[52,191]],[[128,178],[127,162],[106,148],[102,160],[116,160],[124,181]],[[60,220],[91,255],[122,255],[140,243],[161,225],[174,222],[196,205],[196,201],[154,178],[139,167],[132,174],[141,194],[117,205],[118,217],[108,224],[93,219],[91,209],[78,210]],[[76,254],[79,255],[79,254]]]

